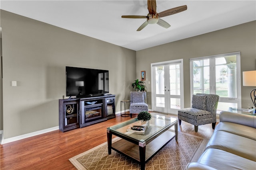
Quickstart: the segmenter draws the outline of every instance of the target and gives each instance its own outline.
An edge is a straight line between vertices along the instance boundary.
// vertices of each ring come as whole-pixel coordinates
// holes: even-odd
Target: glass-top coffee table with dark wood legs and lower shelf
[[[140,163],[141,170],[145,169],[146,162],[150,160],[174,137],[178,141],[178,119],[163,115],[152,115],[148,121],[144,134],[140,131],[127,131],[134,125],[142,123],[136,118],[107,128],[108,154],[111,149],[116,150]],[[174,130],[170,128],[174,126]],[[112,135],[121,139],[112,143]]]

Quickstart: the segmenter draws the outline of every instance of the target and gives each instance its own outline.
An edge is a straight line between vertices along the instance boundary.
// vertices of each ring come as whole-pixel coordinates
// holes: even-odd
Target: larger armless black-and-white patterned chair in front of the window
[[[194,125],[195,132],[197,132],[198,125],[212,123],[212,129],[214,129],[218,101],[219,96],[216,94],[193,94],[192,106],[178,110],[179,125],[181,125],[181,121],[186,121]]]

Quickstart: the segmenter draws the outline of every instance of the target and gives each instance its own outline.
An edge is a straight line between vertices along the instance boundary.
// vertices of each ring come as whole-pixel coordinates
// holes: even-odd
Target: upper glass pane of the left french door
[[[164,66],[156,67],[156,94],[164,94]]]

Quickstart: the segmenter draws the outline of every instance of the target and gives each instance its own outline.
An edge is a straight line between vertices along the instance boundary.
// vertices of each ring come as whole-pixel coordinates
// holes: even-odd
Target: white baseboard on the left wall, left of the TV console
[[[11,138],[8,138],[8,139],[2,139],[1,145],[6,144],[6,143],[10,143],[10,142],[14,142],[14,141],[18,141],[20,139],[25,139],[25,138],[28,138],[28,137],[33,137],[33,136],[36,136],[36,135],[41,135],[43,133],[55,131],[55,130],[58,130],[58,129],[59,129],[59,127],[56,126],[56,127],[51,127],[51,128],[44,129],[44,130],[41,130],[41,131],[36,131],[36,132],[27,133],[27,134],[16,136],[16,137],[11,137]],[[1,134],[3,134],[3,133],[1,133]],[[3,135],[2,135],[2,137],[3,137]]]

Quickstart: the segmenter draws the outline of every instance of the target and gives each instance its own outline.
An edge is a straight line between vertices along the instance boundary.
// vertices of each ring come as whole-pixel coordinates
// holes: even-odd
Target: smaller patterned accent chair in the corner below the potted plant
[[[130,117],[132,117],[132,113],[148,111],[146,96],[146,92],[130,92]]]

